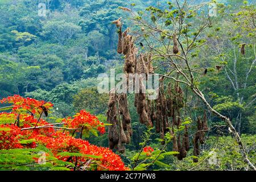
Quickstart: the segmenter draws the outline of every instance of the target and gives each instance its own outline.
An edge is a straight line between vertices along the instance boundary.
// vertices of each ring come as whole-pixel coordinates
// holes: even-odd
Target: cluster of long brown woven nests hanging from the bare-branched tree
[[[118,20],[119,21],[119,20]],[[128,35],[129,28],[122,32],[121,22],[117,22],[119,28],[118,34],[118,48],[117,52],[125,55],[125,65],[123,72],[128,77],[131,73],[138,73],[148,75],[148,73],[154,73],[152,67],[151,54],[140,54],[137,57],[138,49],[135,47],[133,37]],[[176,35],[174,37],[176,39]],[[177,43],[175,42],[175,46]],[[174,129],[179,129],[181,126],[181,109],[184,107],[184,93],[179,86],[179,82],[175,82],[173,85],[169,84],[167,90],[164,90],[164,86],[159,88],[159,97],[157,100],[148,100],[143,80],[147,77],[139,77],[139,92],[135,93],[134,106],[137,108],[139,114],[139,121],[147,127],[155,126],[156,133],[160,133],[162,144],[165,143],[164,135],[167,132],[173,134],[173,151],[179,152],[177,159],[182,160],[187,156],[189,151],[189,135],[188,125],[185,125],[183,134],[174,134]],[[129,78],[127,78],[129,80]],[[113,91],[113,90],[112,90]],[[131,130],[131,117],[128,109],[127,94],[110,93],[108,121],[112,124],[109,127],[109,147],[115,148],[118,152],[125,152],[124,144],[130,143],[132,136]],[[202,131],[204,130],[204,131]],[[204,113],[204,119],[197,119],[197,132],[193,139],[194,152],[193,155],[198,156],[200,154],[199,145],[204,143],[205,131],[207,127],[207,117]],[[194,162],[197,159],[194,159]]]

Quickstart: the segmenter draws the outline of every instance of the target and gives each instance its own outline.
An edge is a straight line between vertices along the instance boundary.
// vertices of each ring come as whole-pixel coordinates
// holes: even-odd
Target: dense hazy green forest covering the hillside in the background
[[[179,2],[182,4],[184,1]],[[188,2],[189,5],[208,3],[206,0]],[[213,2],[219,5],[218,16],[213,26],[200,35],[200,41],[189,58],[199,75],[196,84],[203,90],[213,109],[230,118],[242,135],[251,162],[255,164],[255,1]],[[46,16],[38,15],[39,3],[46,5]],[[136,13],[132,16],[119,7],[127,7]],[[118,30],[112,22],[122,17],[123,30],[131,27],[131,32],[136,35],[140,27],[135,26],[134,21],[146,19],[152,21],[149,23],[152,26],[159,26],[154,24],[154,19],[158,18],[158,11],[154,7],[164,10],[168,3],[155,0],[0,1],[0,100],[19,94],[52,102],[56,108],[51,113],[52,117],[67,118],[85,109],[106,122],[109,96],[98,94],[97,77],[100,73],[109,73],[113,68],[115,72],[123,72],[124,58],[117,53]],[[170,12],[170,17],[173,14],[175,16],[175,11]],[[200,24],[200,20],[191,23]],[[163,24],[174,26],[168,21]],[[170,28],[168,26],[164,30],[166,34]],[[196,33],[188,32],[191,36]],[[148,35],[150,38],[153,36]],[[166,39],[166,35],[163,34],[162,38]],[[140,47],[139,42],[148,44],[146,36],[138,37],[135,42],[137,47]],[[149,40],[149,45],[152,42],[157,40]],[[244,54],[241,53],[243,44],[246,44]],[[158,63],[154,63],[154,67],[158,67],[161,61],[159,59]],[[160,73],[167,71],[168,67],[160,67]],[[189,95],[186,99],[191,103],[183,113],[183,118],[189,117],[195,121],[196,115],[202,116],[206,108],[195,96]],[[130,104],[133,137],[126,146],[126,153],[120,155],[123,162],[129,165],[145,142],[142,136],[147,128],[139,123],[139,115],[133,107],[133,94],[128,95],[127,100]],[[247,169],[237,144],[229,137],[228,127],[214,127],[225,125],[224,121],[208,112],[208,125],[213,130],[207,133],[207,142],[201,146],[203,153],[199,159],[203,161],[215,148],[220,164],[218,167],[203,162],[196,168],[192,158],[180,162],[174,156],[167,155],[164,163],[158,161],[158,167],[151,169]],[[151,136],[147,140],[148,145],[160,148],[159,135],[153,133],[148,131],[146,134]],[[107,135],[97,138],[91,136],[88,140],[98,146],[108,147]],[[171,151],[172,146],[167,146],[167,149]],[[189,154],[193,155],[191,151]],[[147,167],[138,169],[143,168]]]

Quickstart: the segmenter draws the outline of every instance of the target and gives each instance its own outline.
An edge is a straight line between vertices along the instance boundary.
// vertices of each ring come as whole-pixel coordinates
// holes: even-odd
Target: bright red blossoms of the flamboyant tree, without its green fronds
[[[51,103],[36,101],[32,98],[23,98],[17,95],[4,98],[1,102],[13,104],[13,112],[0,113],[0,123],[3,123],[3,125],[0,125],[0,150],[24,147],[36,148],[38,144],[42,144],[49,148],[59,160],[77,160],[77,167],[90,162],[89,159],[91,159],[93,164],[97,164],[97,170],[129,170],[129,168],[125,167],[120,156],[114,154],[109,148],[97,147],[86,140],[71,137],[68,131],[63,132],[62,129],[55,130],[53,127],[49,127],[51,123],[48,123],[42,118],[35,118],[35,113],[41,114],[44,110],[51,109],[53,106]],[[14,123],[18,120],[19,127],[14,126]],[[97,129],[101,134],[105,133],[104,123],[85,110],[81,110],[75,117],[70,117],[63,121],[67,123],[66,125],[68,127],[75,129],[83,127],[85,130]],[[10,123],[12,124],[10,125]],[[33,128],[36,124],[38,127],[41,126],[41,128]],[[29,139],[34,139],[35,142],[20,144],[21,140]],[[59,152],[79,152],[85,156],[79,156],[77,158],[74,156],[59,156]],[[97,158],[95,156],[99,157]],[[38,159],[35,158],[35,160]]]

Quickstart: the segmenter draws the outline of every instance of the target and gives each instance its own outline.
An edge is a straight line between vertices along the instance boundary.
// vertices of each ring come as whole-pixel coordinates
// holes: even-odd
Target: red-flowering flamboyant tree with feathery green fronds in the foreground
[[[43,118],[51,113],[50,102],[15,95],[3,98],[1,103],[11,104],[3,107],[11,112],[0,113],[0,168],[129,169],[109,148],[97,147],[82,139],[90,133],[105,133],[104,123],[89,112],[81,110],[61,123],[57,122],[59,119],[49,123]],[[80,133],[79,139],[73,137],[75,133]]]

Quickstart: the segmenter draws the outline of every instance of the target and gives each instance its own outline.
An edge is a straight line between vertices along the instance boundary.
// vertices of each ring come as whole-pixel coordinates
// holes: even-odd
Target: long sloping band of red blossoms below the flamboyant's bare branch
[[[123,164],[120,156],[114,154],[109,148],[97,147],[90,144],[86,140],[76,139],[67,134],[61,132],[56,132],[51,137],[44,137],[39,135],[36,137],[39,143],[46,145],[47,148],[50,148],[57,158],[67,161],[67,157],[57,156],[57,151],[67,151],[67,152],[80,152],[85,155],[101,156],[100,159],[93,159],[100,162],[98,170],[110,170],[110,171],[124,171],[128,168]],[[55,152],[54,152],[55,151]],[[77,158],[80,163],[86,162],[88,158],[79,157]],[[74,159],[75,160],[75,159]]]

